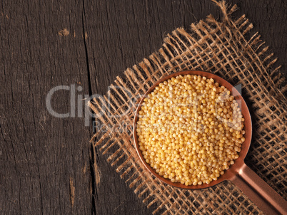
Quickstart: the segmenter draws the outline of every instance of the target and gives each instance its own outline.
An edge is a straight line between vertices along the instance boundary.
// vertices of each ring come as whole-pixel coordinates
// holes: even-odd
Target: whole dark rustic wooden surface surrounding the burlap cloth
[[[286,72],[286,1],[227,2]],[[57,85],[104,94],[116,75],[161,48],[166,33],[208,14],[221,17],[210,0],[1,1],[0,214],[151,214],[93,152],[84,117],[52,116],[46,95]],[[70,92],[58,91],[51,104],[71,112]]]

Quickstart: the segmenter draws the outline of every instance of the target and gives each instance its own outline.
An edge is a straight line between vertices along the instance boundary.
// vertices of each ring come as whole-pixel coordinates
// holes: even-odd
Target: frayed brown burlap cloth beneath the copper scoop
[[[231,182],[202,190],[177,189],[155,179],[141,164],[133,145],[132,124],[136,101],[159,78],[180,70],[206,70],[242,85],[253,120],[253,139],[246,164],[286,199],[286,83],[276,59],[252,23],[243,15],[231,18],[236,5],[216,4],[223,20],[213,16],[177,28],[164,38],[163,47],[117,77],[103,98],[90,103],[98,130],[91,142],[121,178],[150,207],[153,214],[262,214]]]

